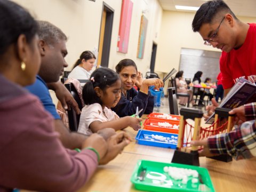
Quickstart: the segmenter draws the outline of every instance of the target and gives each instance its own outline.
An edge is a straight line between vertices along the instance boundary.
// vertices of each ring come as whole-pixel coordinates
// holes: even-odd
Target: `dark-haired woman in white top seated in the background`
[[[84,51],[76,61],[68,78],[89,79],[95,63],[95,55],[91,51]]]

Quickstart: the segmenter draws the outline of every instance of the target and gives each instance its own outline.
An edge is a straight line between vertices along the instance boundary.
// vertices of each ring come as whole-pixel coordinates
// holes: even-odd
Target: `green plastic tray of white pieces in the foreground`
[[[198,179],[198,183],[192,183],[191,179],[193,178],[188,177],[188,182],[186,185],[181,183],[181,180],[174,180],[170,177],[170,175],[164,172],[165,166],[173,166],[185,169],[196,170],[201,178]],[[139,177],[141,176],[141,170],[145,170],[145,177],[144,180],[140,180]],[[155,174],[155,172],[159,174]],[[166,179],[161,181],[161,179],[151,179],[149,176],[161,176],[165,175]],[[159,177],[161,178],[161,177]],[[158,180],[156,182],[156,180]],[[161,181],[159,183],[159,181]],[[207,169],[199,166],[193,165],[185,165],[185,164],[178,164],[178,163],[162,163],[162,162],[154,162],[154,161],[146,161],[146,160],[139,160],[137,165],[135,166],[134,172],[131,177],[131,182],[134,184],[136,189],[139,190],[146,190],[146,191],[215,191],[212,185],[212,181]],[[172,182],[172,186],[170,185]],[[167,184],[166,184],[167,183]],[[168,184],[169,183],[169,184]]]

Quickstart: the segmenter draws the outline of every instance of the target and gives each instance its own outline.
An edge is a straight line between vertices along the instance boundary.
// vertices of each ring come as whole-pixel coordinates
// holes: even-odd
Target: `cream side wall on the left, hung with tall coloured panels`
[[[79,55],[85,50],[93,50],[99,45],[102,0],[14,0],[26,7],[38,20],[47,20],[58,26],[68,36],[66,60],[71,69]],[[145,73],[150,65],[153,41],[158,42],[162,20],[162,8],[157,0],[133,0],[130,41],[127,54],[116,51],[122,0],[105,0],[114,9],[113,30],[111,36],[109,68],[129,58],[135,61],[138,69]],[[144,58],[137,58],[140,20],[146,10],[148,29]],[[157,35],[156,35],[157,34]]]

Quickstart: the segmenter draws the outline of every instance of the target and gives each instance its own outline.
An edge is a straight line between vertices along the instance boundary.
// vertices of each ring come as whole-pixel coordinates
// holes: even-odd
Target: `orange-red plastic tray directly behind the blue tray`
[[[161,127],[158,126],[158,122],[164,123],[167,121],[159,121],[159,120],[155,120],[155,119],[146,119],[146,121],[144,122],[144,129],[146,130],[153,130],[153,131],[161,131],[161,132],[167,132],[167,133],[179,133],[179,129],[173,129],[171,127]],[[170,123],[172,125],[179,125],[179,123],[173,123],[173,122],[167,122]],[[150,125],[152,124],[152,125]]]

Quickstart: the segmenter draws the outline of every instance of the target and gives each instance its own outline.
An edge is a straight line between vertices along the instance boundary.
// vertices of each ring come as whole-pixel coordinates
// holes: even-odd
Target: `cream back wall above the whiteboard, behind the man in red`
[[[164,11],[161,36],[156,54],[155,71],[168,73],[173,67],[179,69],[181,47],[208,51],[219,51],[205,46],[199,33],[191,27],[195,13]],[[256,18],[238,17],[243,22],[256,22]]]

